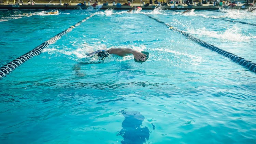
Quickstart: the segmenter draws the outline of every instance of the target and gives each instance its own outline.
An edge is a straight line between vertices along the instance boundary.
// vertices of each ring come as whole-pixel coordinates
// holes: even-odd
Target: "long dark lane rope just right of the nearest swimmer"
[[[248,70],[256,73],[256,63],[254,63],[254,62],[252,62],[250,60],[246,60],[246,59],[244,59],[242,57],[239,57],[239,56],[237,56],[235,54],[229,53],[228,51],[225,51],[224,49],[218,48],[217,46],[214,46],[214,45],[211,45],[211,44],[209,44],[207,42],[204,42],[204,41],[202,41],[202,40],[200,40],[200,39],[198,39],[198,38],[196,38],[196,37],[194,37],[194,36],[184,32],[184,31],[176,29],[176,28],[170,26],[169,24],[166,24],[163,21],[160,21],[159,19],[156,19],[156,18],[154,18],[152,16],[149,16],[149,15],[146,15],[146,16],[156,20],[157,22],[159,22],[161,24],[165,24],[167,27],[169,27],[170,30],[177,31],[177,32],[183,34],[189,40],[194,41],[194,42],[198,43],[199,45],[201,45],[201,46],[203,46],[205,48],[211,49],[212,51],[217,52],[217,53],[219,53],[219,54],[221,54],[221,55],[223,55],[223,56],[225,56],[227,58],[230,58],[232,61],[234,61],[234,62],[240,64],[241,66],[247,68]]]

